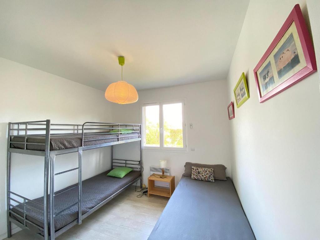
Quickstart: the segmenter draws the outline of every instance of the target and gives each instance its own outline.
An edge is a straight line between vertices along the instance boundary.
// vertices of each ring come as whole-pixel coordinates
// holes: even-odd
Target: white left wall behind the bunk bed
[[[51,119],[52,123],[110,122],[104,92],[0,58],[0,239],[6,237],[8,122]],[[56,171],[77,166],[77,154],[57,156]],[[83,179],[110,169],[110,148],[83,153]],[[12,191],[29,198],[43,194],[44,159],[12,154]],[[77,181],[76,171],[56,177],[58,190]]]

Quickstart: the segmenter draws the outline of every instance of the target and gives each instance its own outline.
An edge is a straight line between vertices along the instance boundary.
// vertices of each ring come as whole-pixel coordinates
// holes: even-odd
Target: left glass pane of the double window
[[[143,107],[144,146],[160,147],[159,105]]]

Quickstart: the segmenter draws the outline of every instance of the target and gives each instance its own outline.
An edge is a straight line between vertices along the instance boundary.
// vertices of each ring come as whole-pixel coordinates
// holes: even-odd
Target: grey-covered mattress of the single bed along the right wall
[[[230,178],[182,176],[148,240],[254,240]]]

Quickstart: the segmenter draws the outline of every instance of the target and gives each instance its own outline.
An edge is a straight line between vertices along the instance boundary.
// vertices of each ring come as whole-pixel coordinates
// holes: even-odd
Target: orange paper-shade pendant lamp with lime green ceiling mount
[[[138,92],[131,84],[122,80],[122,66],[124,65],[124,57],[118,57],[119,65],[121,65],[121,81],[112,83],[108,86],[105,97],[110,102],[119,104],[134,103],[138,101]]]

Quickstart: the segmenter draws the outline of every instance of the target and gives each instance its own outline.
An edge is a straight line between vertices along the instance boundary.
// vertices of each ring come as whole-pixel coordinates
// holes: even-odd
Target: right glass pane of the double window
[[[163,105],[164,147],[183,148],[182,103]]]

